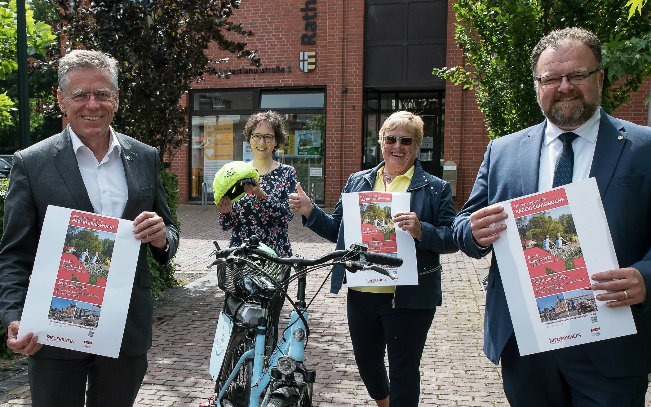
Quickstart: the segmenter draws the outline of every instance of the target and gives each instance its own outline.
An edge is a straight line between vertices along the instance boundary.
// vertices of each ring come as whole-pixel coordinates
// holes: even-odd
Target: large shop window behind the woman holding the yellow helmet
[[[296,168],[298,181],[308,195],[314,191],[316,203],[325,201],[324,91],[202,90],[193,92],[191,98],[190,199],[201,199],[204,182],[210,196],[214,175],[225,163],[253,160],[244,126],[256,111],[272,109],[283,115],[287,130],[276,160]]]

